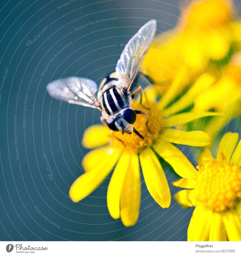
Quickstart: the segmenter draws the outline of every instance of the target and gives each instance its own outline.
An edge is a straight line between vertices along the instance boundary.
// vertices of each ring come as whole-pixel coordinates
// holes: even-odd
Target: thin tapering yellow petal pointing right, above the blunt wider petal
[[[165,123],[166,127],[185,125],[188,122],[195,121],[201,117],[221,115],[218,112],[199,112],[199,113],[180,113],[170,116]]]

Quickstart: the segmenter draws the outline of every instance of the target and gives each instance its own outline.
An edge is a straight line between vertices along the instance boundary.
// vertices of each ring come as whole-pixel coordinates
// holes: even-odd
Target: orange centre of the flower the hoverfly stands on
[[[131,108],[148,113],[148,116],[143,114],[136,115],[136,122],[133,124],[136,133],[122,134],[121,132],[112,131],[109,137],[112,144],[115,144],[115,147],[122,147],[130,152],[137,151],[138,153],[140,149],[149,147],[156,141],[166,119],[162,115],[162,109],[160,109],[158,103],[156,103],[151,95],[146,96],[144,94],[142,104],[139,103],[138,98],[133,100]]]

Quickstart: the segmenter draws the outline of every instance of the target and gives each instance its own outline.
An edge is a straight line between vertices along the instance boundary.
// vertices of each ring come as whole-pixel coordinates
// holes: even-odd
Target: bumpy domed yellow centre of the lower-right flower
[[[200,172],[193,196],[197,205],[214,212],[230,210],[241,197],[241,170],[236,164],[213,159],[197,166]]]

